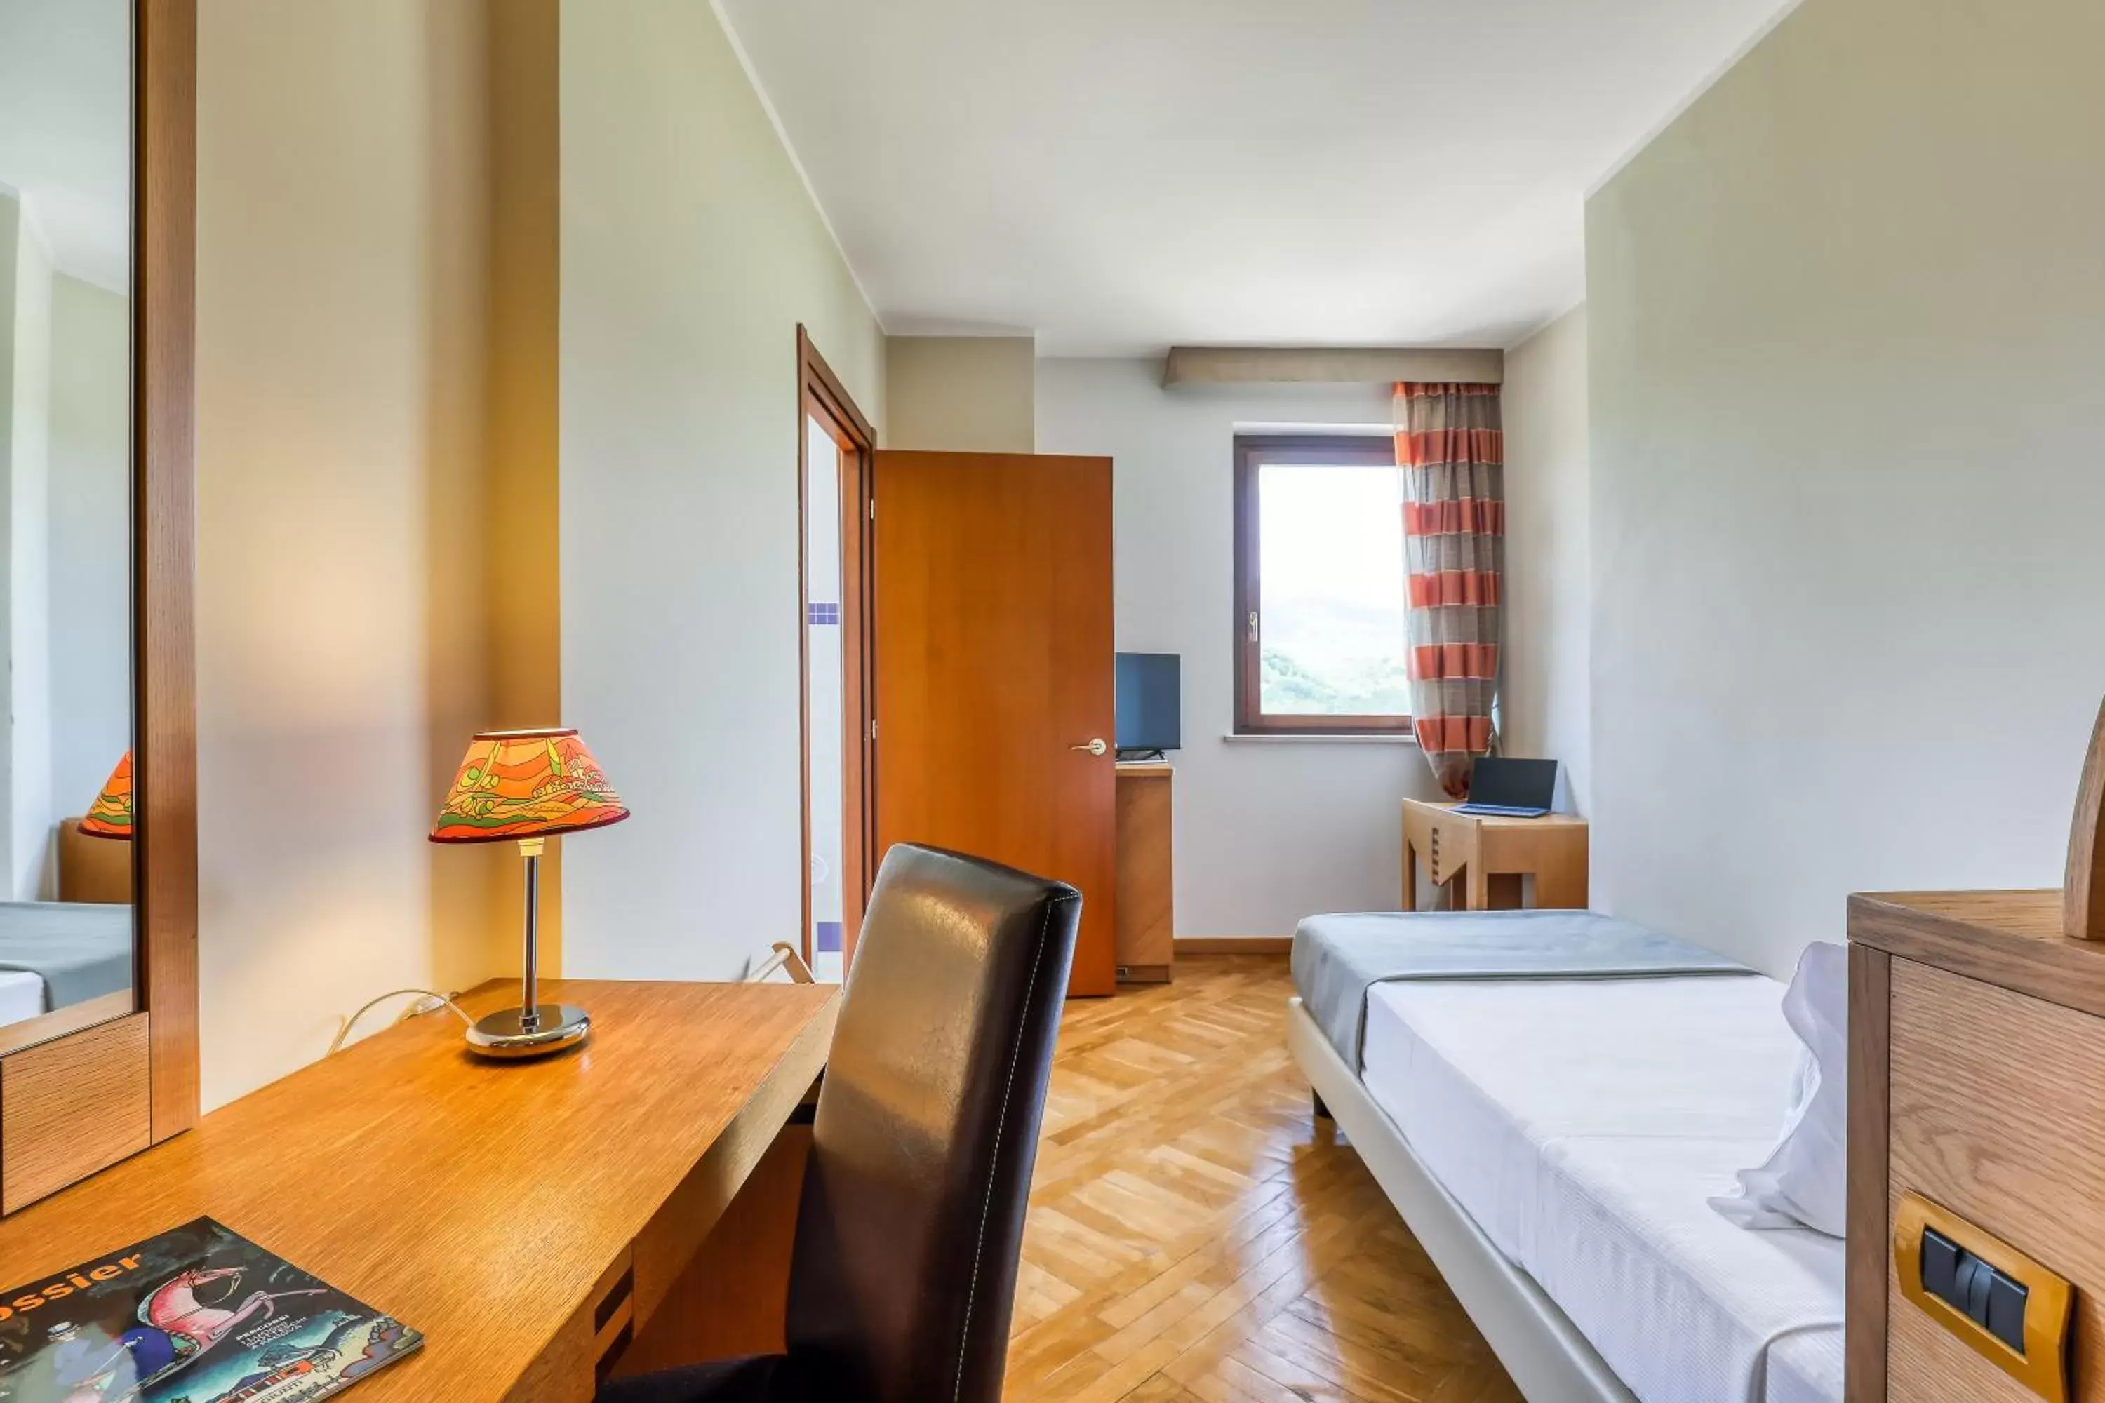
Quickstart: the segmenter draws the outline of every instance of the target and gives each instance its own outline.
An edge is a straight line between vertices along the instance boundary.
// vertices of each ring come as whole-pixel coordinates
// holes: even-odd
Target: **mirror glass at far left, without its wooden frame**
[[[137,1010],[133,6],[0,0],[0,1048]]]

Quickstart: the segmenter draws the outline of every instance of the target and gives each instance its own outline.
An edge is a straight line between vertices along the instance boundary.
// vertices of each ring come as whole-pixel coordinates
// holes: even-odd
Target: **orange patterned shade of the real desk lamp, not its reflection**
[[[497,843],[604,829],[629,816],[575,730],[486,730],[467,743],[434,843]]]

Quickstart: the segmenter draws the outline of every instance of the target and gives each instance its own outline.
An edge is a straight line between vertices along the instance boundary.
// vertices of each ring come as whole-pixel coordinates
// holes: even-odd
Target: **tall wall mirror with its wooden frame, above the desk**
[[[196,0],[0,0],[0,1214],[198,1119]]]

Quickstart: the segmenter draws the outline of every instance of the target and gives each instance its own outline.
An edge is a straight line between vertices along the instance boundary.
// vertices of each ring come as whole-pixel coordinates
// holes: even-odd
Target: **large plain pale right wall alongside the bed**
[[[2059,886],[2101,53],[2097,0],[1810,0],[1589,202],[1606,909],[1783,972],[1852,890]]]

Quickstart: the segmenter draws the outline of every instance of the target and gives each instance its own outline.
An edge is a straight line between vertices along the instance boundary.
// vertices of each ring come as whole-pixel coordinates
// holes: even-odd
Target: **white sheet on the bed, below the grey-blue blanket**
[[[1781,999],[1766,978],[1377,984],[1362,1079],[1631,1392],[1766,1403],[1770,1340],[1842,1321],[1842,1243],[1705,1203],[1781,1127]]]

